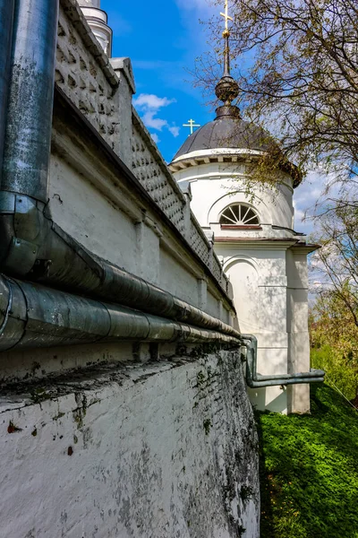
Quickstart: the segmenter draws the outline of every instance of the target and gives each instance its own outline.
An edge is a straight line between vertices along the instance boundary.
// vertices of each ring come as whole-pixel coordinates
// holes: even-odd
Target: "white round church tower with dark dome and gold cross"
[[[233,104],[239,86],[230,74],[227,4],[221,13],[224,74],[215,89],[223,104],[213,121],[186,138],[169,169],[222,260],[233,286],[238,329],[257,340],[256,374],[262,384],[248,383],[251,403],[276,412],[308,412],[306,381],[321,380],[321,372],[310,369],[307,323],[307,256],[317,245],[294,230],[294,188],[302,177],[292,163],[283,160],[277,167],[275,186],[262,181],[256,187],[252,181],[262,156],[280,150]],[[285,383],[288,377],[293,384]]]

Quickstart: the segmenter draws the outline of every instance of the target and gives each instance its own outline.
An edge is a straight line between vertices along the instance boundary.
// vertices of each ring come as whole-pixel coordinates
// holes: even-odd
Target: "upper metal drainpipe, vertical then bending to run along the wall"
[[[4,0],[1,0],[4,1]],[[0,191],[0,272],[234,338],[233,327],[93,255],[47,206],[58,0],[15,0]]]

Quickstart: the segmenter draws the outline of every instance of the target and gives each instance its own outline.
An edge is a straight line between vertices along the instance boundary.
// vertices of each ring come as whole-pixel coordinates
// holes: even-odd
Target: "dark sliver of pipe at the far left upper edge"
[[[4,153],[7,93],[10,81],[10,56],[13,33],[14,0],[0,0],[0,178]]]

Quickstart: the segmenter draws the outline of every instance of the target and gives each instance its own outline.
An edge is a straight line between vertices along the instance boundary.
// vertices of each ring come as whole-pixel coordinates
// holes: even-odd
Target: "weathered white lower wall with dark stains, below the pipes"
[[[2,536],[258,538],[258,439],[238,352],[22,389],[0,402]]]

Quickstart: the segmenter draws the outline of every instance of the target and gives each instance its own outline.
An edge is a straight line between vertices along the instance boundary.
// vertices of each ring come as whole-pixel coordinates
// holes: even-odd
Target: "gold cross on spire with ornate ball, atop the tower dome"
[[[225,107],[232,107],[231,103],[239,95],[239,85],[230,74],[230,30],[228,27],[228,22],[233,21],[233,17],[230,17],[228,14],[228,0],[225,0],[225,13],[220,13],[225,19],[225,30],[223,31],[223,38],[225,41],[224,49],[224,75],[221,77],[219,82],[215,87],[215,93],[217,99],[223,101]],[[221,107],[220,107],[221,108]],[[235,116],[238,115],[238,109],[235,112]]]

